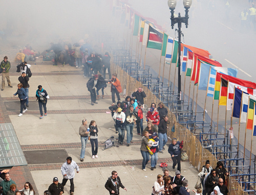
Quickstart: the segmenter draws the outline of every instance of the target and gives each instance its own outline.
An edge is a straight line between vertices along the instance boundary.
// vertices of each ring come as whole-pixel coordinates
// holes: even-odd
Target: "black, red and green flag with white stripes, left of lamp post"
[[[152,26],[148,29],[147,48],[162,50],[163,33],[154,29]]]

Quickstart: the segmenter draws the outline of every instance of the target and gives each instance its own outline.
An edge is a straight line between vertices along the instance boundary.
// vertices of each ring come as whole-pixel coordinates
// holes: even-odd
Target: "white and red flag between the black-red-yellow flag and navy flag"
[[[245,86],[242,86],[240,84],[229,82],[228,84],[228,99],[227,99],[227,110],[231,110],[231,103],[233,102],[234,97],[234,87],[238,88],[239,90],[250,94],[252,96],[256,97],[256,90],[253,90],[251,88],[246,88]]]

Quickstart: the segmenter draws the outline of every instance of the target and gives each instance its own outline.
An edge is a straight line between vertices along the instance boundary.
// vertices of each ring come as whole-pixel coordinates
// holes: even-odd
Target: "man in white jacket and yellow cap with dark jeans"
[[[125,114],[122,112],[121,107],[118,107],[113,115],[115,120],[116,131],[118,132],[118,143],[123,145],[124,132],[125,132]]]

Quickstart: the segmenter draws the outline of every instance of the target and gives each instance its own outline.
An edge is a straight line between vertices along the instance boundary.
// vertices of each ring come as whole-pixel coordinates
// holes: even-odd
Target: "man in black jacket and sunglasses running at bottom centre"
[[[112,176],[109,177],[108,181],[105,183],[105,188],[109,190],[110,194],[119,194],[120,187],[127,191],[127,189],[121,183],[120,178],[117,176],[117,172],[113,170],[111,174]]]

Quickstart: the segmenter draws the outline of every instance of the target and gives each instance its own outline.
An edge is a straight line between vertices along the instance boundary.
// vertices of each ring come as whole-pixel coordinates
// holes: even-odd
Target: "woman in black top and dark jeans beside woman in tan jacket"
[[[96,125],[96,122],[92,120],[89,125],[90,128],[90,142],[92,145],[92,158],[98,158],[97,153],[98,153],[98,127]],[[95,149],[94,149],[94,144],[95,144]]]

